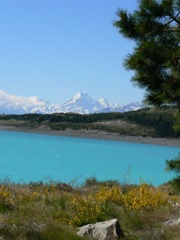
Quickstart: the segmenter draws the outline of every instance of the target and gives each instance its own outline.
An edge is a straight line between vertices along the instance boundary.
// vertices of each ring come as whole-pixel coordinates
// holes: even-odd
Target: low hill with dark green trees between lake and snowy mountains
[[[23,129],[103,131],[130,136],[178,138],[175,108],[140,109],[125,113],[0,115],[0,126]]]

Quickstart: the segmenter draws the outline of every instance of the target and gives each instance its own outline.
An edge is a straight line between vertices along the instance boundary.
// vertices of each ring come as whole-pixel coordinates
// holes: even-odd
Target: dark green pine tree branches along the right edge
[[[146,91],[151,105],[177,106],[175,129],[180,131],[180,1],[139,0],[138,10],[128,13],[118,9],[114,22],[119,32],[135,41],[124,65],[134,71],[132,81]],[[166,162],[176,171],[180,183],[180,157]]]

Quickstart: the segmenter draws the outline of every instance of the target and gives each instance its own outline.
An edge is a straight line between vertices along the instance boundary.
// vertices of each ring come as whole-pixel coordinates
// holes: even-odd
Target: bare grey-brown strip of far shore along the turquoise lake
[[[89,139],[97,139],[97,140],[99,139],[99,140],[110,140],[110,141],[119,141],[119,142],[134,142],[134,143],[180,147],[179,138],[154,138],[154,137],[142,137],[142,136],[126,136],[126,135],[119,135],[118,133],[100,132],[96,130],[87,131],[87,130],[66,129],[64,131],[59,131],[59,130],[51,130],[47,127],[30,129],[30,128],[15,127],[15,126],[2,126],[2,125],[0,126],[0,130],[64,136],[64,137],[89,138]]]

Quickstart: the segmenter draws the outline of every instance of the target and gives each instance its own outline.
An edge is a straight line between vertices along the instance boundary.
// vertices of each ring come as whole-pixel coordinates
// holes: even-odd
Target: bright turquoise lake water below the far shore
[[[89,177],[160,185],[178,147],[0,131],[0,179],[83,183]]]

